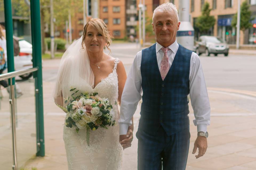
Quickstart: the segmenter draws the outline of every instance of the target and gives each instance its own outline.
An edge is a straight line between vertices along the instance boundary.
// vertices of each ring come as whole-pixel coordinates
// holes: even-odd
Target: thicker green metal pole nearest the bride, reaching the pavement
[[[30,1],[31,33],[33,49],[33,67],[38,67],[34,73],[36,93],[36,119],[38,136],[37,156],[45,156],[45,137],[43,121],[43,80],[42,80],[42,52],[41,52],[41,21],[39,0]]]

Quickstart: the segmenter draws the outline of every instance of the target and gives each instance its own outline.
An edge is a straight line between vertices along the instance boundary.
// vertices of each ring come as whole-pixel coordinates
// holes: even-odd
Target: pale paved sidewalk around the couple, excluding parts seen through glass
[[[40,170],[67,169],[64,142],[62,139],[65,114],[61,113],[51,100],[49,89],[53,83],[44,82],[45,112],[45,153],[43,158],[30,159],[26,168]],[[247,91],[248,92],[248,91]],[[197,128],[193,125],[193,110],[190,105],[190,150],[187,169],[256,169],[256,113],[241,108],[234,101],[248,98],[252,103],[254,96],[243,91],[230,92],[228,89],[209,88],[211,104],[211,125],[208,126],[209,138],[206,154],[195,159],[192,154]],[[137,131],[139,106],[134,115],[134,135]],[[124,151],[122,170],[137,169],[137,139]]]

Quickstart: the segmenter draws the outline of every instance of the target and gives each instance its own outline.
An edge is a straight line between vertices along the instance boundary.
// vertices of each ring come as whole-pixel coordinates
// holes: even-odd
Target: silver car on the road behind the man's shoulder
[[[229,55],[229,46],[221,39],[214,36],[200,36],[196,42],[195,52],[198,55],[205,53],[206,56],[214,54],[224,54],[225,56]]]

